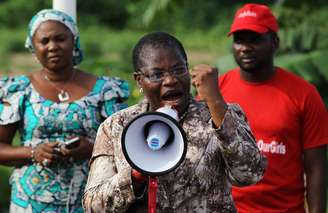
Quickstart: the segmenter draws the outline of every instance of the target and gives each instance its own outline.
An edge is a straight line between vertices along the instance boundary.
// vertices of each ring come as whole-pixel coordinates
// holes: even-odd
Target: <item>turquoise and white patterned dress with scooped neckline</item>
[[[127,107],[127,82],[98,77],[92,90],[79,100],[56,103],[43,98],[27,76],[0,79],[0,125],[19,122],[22,146],[65,141],[73,136],[94,142],[104,118]],[[81,198],[88,161],[58,161],[15,168],[11,178],[11,211],[83,212]]]

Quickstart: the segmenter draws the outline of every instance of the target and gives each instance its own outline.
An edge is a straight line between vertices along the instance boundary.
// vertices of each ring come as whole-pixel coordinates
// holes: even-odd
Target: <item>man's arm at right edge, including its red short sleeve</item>
[[[314,86],[305,94],[301,110],[307,202],[310,213],[325,212],[328,117],[324,102]]]

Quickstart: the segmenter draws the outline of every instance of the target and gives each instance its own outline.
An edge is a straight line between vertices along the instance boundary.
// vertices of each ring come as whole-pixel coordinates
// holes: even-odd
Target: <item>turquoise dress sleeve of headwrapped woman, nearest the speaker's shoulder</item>
[[[107,118],[128,106],[125,101],[129,97],[129,85],[126,81],[116,77],[104,79],[106,82],[103,88],[101,116]]]

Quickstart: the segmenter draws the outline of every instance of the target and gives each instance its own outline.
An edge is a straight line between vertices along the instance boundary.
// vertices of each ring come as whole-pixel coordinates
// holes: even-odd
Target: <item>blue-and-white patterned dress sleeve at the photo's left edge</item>
[[[25,86],[23,78],[0,79],[0,125],[21,120],[20,105],[25,94]]]

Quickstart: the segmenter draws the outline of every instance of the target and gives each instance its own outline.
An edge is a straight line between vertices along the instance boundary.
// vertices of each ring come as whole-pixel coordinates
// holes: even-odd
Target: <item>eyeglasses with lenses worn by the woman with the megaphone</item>
[[[186,65],[177,66],[169,70],[160,70],[153,69],[148,72],[138,72],[136,74],[145,76],[149,81],[158,83],[163,81],[166,75],[171,75],[175,77],[179,77],[188,73],[188,67]]]

